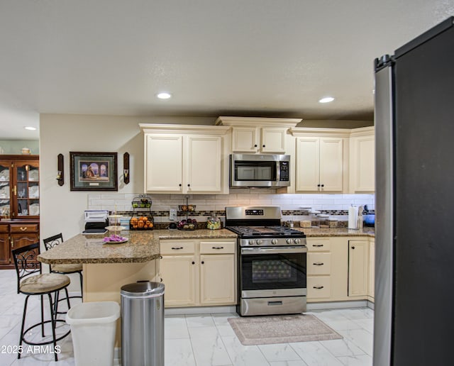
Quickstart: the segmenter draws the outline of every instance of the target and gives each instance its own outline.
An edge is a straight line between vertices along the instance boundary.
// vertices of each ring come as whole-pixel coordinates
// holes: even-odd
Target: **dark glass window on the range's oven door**
[[[306,287],[306,253],[241,255],[241,290]]]

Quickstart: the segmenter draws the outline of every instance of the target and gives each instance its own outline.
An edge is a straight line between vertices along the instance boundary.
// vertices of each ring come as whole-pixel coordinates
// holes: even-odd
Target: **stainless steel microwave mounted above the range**
[[[290,155],[230,155],[230,187],[288,187]]]

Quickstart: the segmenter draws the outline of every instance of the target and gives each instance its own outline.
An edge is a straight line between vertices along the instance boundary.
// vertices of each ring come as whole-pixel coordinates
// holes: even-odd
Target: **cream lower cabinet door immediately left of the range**
[[[201,304],[235,304],[235,255],[200,256]]]

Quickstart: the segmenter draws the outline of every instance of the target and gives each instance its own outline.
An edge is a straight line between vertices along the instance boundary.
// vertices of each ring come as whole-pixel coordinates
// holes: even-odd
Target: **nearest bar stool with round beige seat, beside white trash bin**
[[[26,301],[23,305],[23,315],[22,315],[22,326],[21,326],[21,338],[19,340],[19,347],[22,346],[22,343],[27,343],[29,345],[48,345],[50,343],[54,346],[54,355],[55,361],[57,361],[57,353],[55,352],[55,347],[57,346],[57,341],[65,338],[70,331],[59,336],[55,336],[55,326],[57,322],[65,323],[65,320],[56,319],[57,316],[57,306],[58,306],[58,293],[60,290],[64,289],[66,296],[68,297],[67,287],[70,284],[70,277],[57,273],[41,273],[41,264],[38,262],[36,257],[39,254],[39,243],[26,245],[25,247],[13,249],[14,266],[16,267],[17,273],[17,291],[18,293],[25,294]],[[55,294],[55,300],[52,301],[51,294]],[[28,298],[32,295],[38,295],[41,298],[41,321],[33,324],[32,326],[25,328],[26,323],[26,313],[27,313],[27,304]],[[50,307],[50,320],[44,320],[44,304],[43,296],[48,295],[49,298],[49,307]],[[32,342],[27,340],[26,334],[31,331],[33,328],[38,326],[41,327],[41,336],[45,337],[44,334],[44,325],[45,323],[50,323],[52,328],[52,340],[43,340],[43,342]],[[18,353],[18,358],[21,358],[21,353]]]

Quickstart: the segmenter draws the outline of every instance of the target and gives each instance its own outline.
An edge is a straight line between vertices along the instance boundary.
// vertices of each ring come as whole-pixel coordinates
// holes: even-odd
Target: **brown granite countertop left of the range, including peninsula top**
[[[128,231],[125,236],[128,236],[126,243],[106,244],[104,235],[78,234],[41,253],[38,260],[50,265],[148,262],[159,257],[160,239],[236,238],[235,233],[226,229]]]

